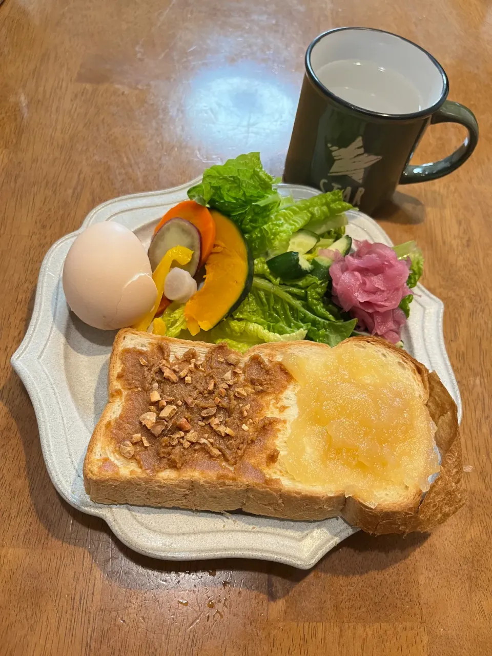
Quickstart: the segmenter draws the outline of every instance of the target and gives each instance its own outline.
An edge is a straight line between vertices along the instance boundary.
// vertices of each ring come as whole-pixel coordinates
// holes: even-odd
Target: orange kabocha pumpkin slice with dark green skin
[[[186,325],[192,335],[210,330],[234,312],[253,284],[253,257],[243,234],[226,216],[212,210],[215,244],[205,264],[203,287],[184,306]]]

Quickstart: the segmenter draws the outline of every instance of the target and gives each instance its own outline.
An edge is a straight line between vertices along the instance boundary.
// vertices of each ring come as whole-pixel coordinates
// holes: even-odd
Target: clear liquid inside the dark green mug
[[[316,75],[338,98],[364,110],[407,114],[423,106],[419,90],[407,77],[375,62],[342,59],[324,64]]]

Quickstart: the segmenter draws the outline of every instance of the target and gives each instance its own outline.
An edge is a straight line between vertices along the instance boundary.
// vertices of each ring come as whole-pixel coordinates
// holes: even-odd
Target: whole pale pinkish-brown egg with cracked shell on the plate
[[[79,234],[66,256],[62,281],[77,317],[103,330],[133,325],[157,297],[142,243],[131,230],[112,221],[96,223]]]

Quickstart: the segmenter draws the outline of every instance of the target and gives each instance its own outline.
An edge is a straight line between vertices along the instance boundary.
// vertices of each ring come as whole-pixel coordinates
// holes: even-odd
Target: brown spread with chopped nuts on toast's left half
[[[142,352],[136,352],[134,356],[136,365],[133,366],[140,371],[142,379],[138,400],[138,403],[142,400],[140,413],[146,410],[145,401],[150,406],[139,422],[143,424],[140,432],[132,435],[130,431],[128,436],[119,437],[117,428],[112,429],[116,447],[123,437],[127,437],[129,444],[134,445],[130,457],[142,457],[139,463],[144,466],[145,447],[145,466],[150,466],[156,459],[157,468],[163,470],[181,469],[191,464],[190,459],[194,459],[195,453],[234,467],[243,457],[247,445],[262,435],[258,432],[262,419],[258,424],[249,419],[253,417],[249,399],[259,390],[277,393],[284,380],[287,382],[285,372],[279,371],[281,365],[265,361],[260,356],[243,359],[225,345],[210,346],[202,361],[195,349],[189,349],[179,357],[172,354],[161,360],[162,355],[157,355],[161,348],[162,355],[169,354],[167,344],[155,344],[149,352],[144,352],[146,364],[148,362],[145,369],[140,369],[138,364]],[[247,365],[243,369],[246,359]],[[156,363],[159,363],[157,371]],[[135,389],[133,381],[131,386]],[[171,392],[173,396],[167,396]],[[251,403],[258,417],[268,413],[268,399],[263,399],[264,396],[259,395],[254,404]],[[135,414],[138,417],[138,411]],[[124,418],[127,426],[132,425],[130,421]],[[241,425],[241,422],[244,423]],[[135,426],[134,430],[138,431],[138,428]]]

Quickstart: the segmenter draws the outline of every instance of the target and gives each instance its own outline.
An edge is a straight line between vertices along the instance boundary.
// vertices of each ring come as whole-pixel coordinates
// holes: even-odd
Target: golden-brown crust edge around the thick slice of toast
[[[83,474],[85,489],[92,501],[105,504],[128,503],[141,506],[163,506],[192,508],[199,510],[236,510],[242,509],[253,514],[262,514],[293,520],[322,520],[342,516],[347,522],[370,533],[408,533],[409,531],[426,531],[443,522],[459,510],[465,501],[461,487],[461,441],[459,437],[457,408],[451,396],[441,383],[436,373],[428,373],[426,367],[417,362],[407,352],[392,346],[385,340],[374,337],[355,337],[359,340],[396,352],[412,368],[422,386],[424,402],[430,417],[437,426],[434,439],[441,453],[441,472],[424,495],[415,495],[405,506],[381,504],[371,508],[355,497],[323,495],[310,491],[287,489],[279,480],[259,482],[249,476],[247,468],[237,472],[234,480],[224,480],[216,473],[169,472],[167,476],[150,476],[146,472],[135,472],[131,476],[121,476],[117,465],[109,459],[101,467],[96,455],[98,445],[104,442],[106,426],[123,402],[123,394],[117,384],[118,358],[127,337],[138,337],[144,342],[167,340],[174,348],[188,348],[186,340],[170,340],[165,337],[136,333],[132,329],[119,331],[113,345],[108,380],[109,400],[102,416],[94,429]],[[305,348],[327,348],[316,342],[302,342]],[[194,342],[197,349],[207,350],[210,344]],[[262,344],[249,350],[248,356],[274,354],[285,349],[285,342]]]

